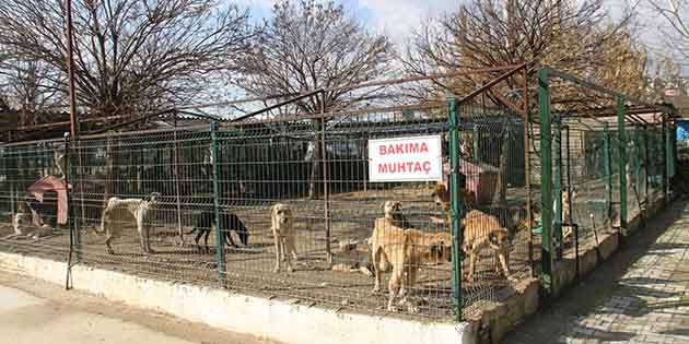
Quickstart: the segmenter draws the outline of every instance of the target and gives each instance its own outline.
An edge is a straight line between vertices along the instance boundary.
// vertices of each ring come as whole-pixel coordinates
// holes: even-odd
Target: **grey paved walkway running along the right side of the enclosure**
[[[506,343],[689,343],[689,203],[673,204],[611,260]]]

